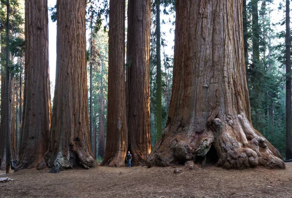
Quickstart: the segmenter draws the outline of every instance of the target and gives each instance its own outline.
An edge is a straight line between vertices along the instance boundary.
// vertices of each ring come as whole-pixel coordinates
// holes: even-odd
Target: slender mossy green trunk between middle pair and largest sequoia
[[[160,39],[160,0],[156,0],[156,134],[162,137],[162,79],[161,79],[161,39]]]

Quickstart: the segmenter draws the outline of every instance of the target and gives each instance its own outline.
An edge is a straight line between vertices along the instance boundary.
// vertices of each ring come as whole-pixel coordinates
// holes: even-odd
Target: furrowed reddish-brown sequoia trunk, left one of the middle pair
[[[124,166],[128,147],[125,82],[125,0],[110,1],[108,123],[101,165]]]

